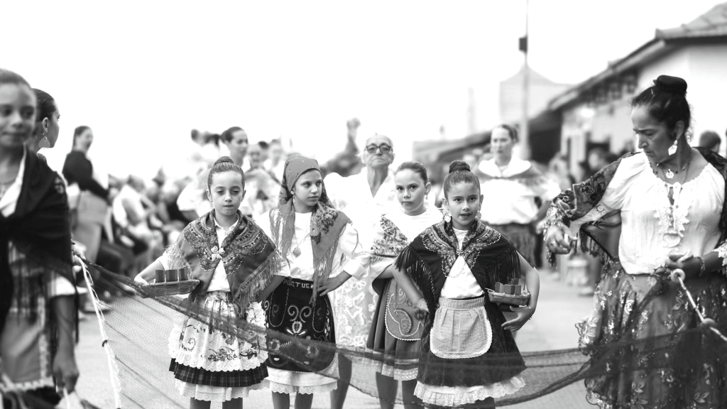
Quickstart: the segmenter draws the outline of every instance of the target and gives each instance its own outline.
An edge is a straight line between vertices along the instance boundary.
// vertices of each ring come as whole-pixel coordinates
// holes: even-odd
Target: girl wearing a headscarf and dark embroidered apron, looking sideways
[[[329,202],[318,162],[292,155],[285,163],[280,206],[258,218],[290,264],[291,277],[265,301],[267,323],[276,330],[312,341],[335,343],[328,293],[350,277],[366,277],[369,253],[358,242],[348,217]],[[329,278],[330,277],[330,278]],[[268,340],[273,406],[310,408],[313,393],[336,388],[335,346],[318,348],[290,338]]]

